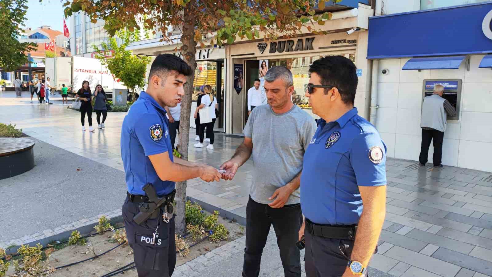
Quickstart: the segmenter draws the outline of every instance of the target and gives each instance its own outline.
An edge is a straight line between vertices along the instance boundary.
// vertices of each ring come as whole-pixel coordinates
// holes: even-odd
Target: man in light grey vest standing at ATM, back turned
[[[449,101],[442,98],[444,87],[442,85],[434,86],[434,93],[424,98],[422,104],[422,113],[420,127],[422,128],[422,145],[420,148],[419,162],[421,166],[427,163],[429,155],[429,146],[431,140],[434,144],[434,154],[432,162],[435,168],[442,168],[442,140],[446,131],[447,115],[456,116],[456,109]]]

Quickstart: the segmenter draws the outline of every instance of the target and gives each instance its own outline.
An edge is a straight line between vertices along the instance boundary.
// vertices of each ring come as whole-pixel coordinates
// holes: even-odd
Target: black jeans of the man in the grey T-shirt
[[[301,276],[301,253],[296,246],[303,222],[301,204],[270,208],[249,197],[246,205],[246,248],[243,277],[260,274],[261,254],[273,224],[285,277]],[[268,257],[267,257],[268,258]]]

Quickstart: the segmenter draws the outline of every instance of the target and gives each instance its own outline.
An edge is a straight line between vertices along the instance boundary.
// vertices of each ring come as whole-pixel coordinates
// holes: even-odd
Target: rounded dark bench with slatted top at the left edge
[[[0,179],[25,173],[34,167],[34,144],[28,138],[0,138]]]

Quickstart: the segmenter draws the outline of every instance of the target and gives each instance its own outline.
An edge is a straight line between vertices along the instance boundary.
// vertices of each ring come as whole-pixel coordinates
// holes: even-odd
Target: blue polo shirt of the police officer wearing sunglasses
[[[358,186],[386,185],[386,145],[353,108],[318,129],[304,154],[301,208],[314,223],[353,225],[362,213]]]

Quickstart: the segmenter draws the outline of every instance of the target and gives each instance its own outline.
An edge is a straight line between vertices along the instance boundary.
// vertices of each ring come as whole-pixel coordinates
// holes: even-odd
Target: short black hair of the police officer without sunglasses
[[[161,78],[166,78],[169,71],[175,70],[184,76],[193,74],[193,70],[178,56],[172,54],[158,55],[151,66],[149,73],[149,81],[152,76],[157,75]]]

